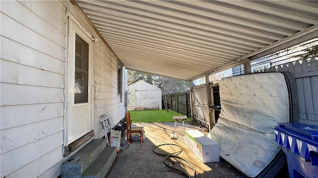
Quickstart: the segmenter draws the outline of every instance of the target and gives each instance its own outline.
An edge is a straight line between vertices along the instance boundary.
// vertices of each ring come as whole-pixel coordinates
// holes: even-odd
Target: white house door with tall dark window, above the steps
[[[68,80],[68,144],[92,130],[91,126],[91,37],[72,20]]]

